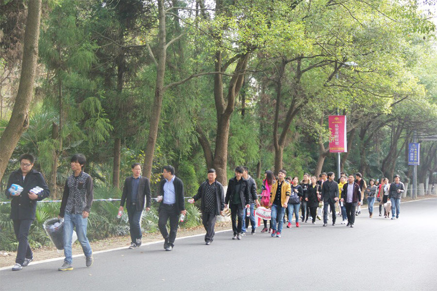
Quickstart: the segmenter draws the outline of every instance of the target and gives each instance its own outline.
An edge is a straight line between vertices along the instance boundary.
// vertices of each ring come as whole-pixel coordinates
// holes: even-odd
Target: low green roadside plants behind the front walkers
[[[87,236],[90,241],[129,234],[127,211],[124,210],[121,218],[117,218],[119,205],[119,201],[93,202],[87,229]],[[143,233],[159,231],[158,206],[158,203],[152,202],[151,210],[143,211],[141,218],[141,229]],[[47,219],[58,216],[59,207],[59,202],[38,203],[36,208],[36,219],[29,232],[29,244],[32,248],[52,245],[42,225]],[[184,222],[179,223],[179,227],[191,228],[201,225],[202,216],[199,208],[197,208],[196,205],[189,203],[185,203],[185,207],[187,215],[185,216]],[[2,251],[16,251],[18,247],[13,223],[9,218],[10,213],[10,204],[0,205],[0,250]]]

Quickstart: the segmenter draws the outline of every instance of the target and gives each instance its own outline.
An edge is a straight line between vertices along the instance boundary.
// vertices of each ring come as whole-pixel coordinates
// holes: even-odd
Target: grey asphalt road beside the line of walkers
[[[0,290],[437,290],[437,199],[401,204],[399,220],[363,213],[355,227],[301,224],[282,238],[232,231],[0,271]],[[366,211],[366,210],[365,210]],[[365,212],[363,211],[363,212]],[[260,229],[257,229],[258,231]]]

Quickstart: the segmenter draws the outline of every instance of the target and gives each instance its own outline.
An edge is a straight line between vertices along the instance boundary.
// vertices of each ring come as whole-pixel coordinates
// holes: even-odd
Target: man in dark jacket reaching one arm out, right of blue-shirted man
[[[205,243],[211,244],[214,240],[214,226],[216,225],[216,216],[223,215],[224,210],[224,193],[223,186],[216,181],[217,174],[215,169],[208,170],[208,178],[197,190],[197,194],[190,199],[190,203],[202,199],[202,224],[205,227]]]

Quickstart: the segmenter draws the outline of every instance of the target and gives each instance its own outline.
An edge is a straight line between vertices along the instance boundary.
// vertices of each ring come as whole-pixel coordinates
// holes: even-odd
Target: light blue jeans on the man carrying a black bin
[[[64,262],[71,264],[73,262],[71,253],[71,239],[73,236],[73,228],[76,227],[77,240],[82,245],[85,257],[91,257],[93,251],[86,237],[86,226],[88,218],[82,218],[82,214],[71,214],[65,211],[64,216]]]

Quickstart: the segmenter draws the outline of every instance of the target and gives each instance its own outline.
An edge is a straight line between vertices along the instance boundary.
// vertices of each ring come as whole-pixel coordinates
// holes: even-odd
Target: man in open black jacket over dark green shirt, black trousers
[[[235,168],[235,177],[231,178],[226,190],[225,207],[229,203],[231,209],[232,229],[234,230],[233,240],[241,240],[241,228],[243,223],[243,210],[249,208],[247,201],[250,200],[249,186],[243,176],[243,167]],[[238,224],[236,216],[238,215]]]

